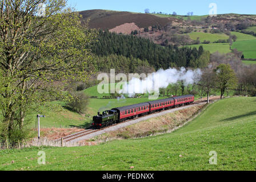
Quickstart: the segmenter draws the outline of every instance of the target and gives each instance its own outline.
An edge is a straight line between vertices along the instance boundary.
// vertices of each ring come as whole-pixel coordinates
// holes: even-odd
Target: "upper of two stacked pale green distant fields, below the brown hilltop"
[[[229,36],[226,34],[211,34],[211,33],[205,33],[205,32],[191,32],[188,34],[191,39],[197,40],[197,38],[200,39],[200,42],[203,42],[204,40],[210,41],[213,43],[216,40],[222,39],[226,40],[229,39]]]

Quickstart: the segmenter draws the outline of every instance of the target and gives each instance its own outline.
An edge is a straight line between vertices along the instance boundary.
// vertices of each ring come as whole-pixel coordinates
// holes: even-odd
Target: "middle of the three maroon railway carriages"
[[[174,107],[174,99],[173,98],[166,98],[157,101],[150,101],[150,112],[155,112],[159,110],[170,109]]]

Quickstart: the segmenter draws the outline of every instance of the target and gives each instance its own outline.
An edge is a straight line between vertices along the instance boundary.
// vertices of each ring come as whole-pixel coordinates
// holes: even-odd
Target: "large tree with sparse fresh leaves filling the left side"
[[[96,36],[66,0],[0,0],[2,137],[23,129],[27,110],[51,83],[86,80]]]

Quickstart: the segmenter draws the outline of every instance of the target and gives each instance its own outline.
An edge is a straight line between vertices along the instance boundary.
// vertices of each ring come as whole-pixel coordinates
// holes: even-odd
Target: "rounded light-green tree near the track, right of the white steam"
[[[237,87],[238,79],[235,76],[234,70],[230,64],[220,64],[216,69],[217,84],[221,90],[221,99],[227,89],[233,89]]]

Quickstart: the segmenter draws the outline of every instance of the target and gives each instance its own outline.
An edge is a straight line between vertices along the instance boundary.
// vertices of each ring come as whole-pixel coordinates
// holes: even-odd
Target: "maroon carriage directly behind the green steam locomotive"
[[[150,112],[150,105],[147,102],[141,104],[135,104],[124,107],[117,107],[112,110],[116,110],[119,115],[119,121],[125,121],[129,118],[135,118],[141,115],[145,115]]]

